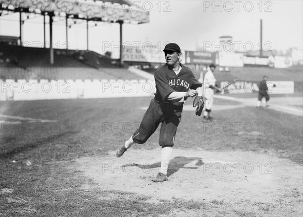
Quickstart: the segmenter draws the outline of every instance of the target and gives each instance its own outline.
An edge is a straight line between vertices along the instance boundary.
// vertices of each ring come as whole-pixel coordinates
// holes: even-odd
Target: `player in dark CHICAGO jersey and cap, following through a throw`
[[[197,81],[188,67],[180,63],[180,47],[170,43],[163,51],[166,64],[155,72],[157,90],[155,98],[150,101],[139,128],[116,153],[117,157],[121,157],[133,144],[145,143],[162,123],[159,138],[159,144],[162,146],[161,172],[152,179],[154,182],[168,180],[167,169],[184,102],[188,97],[196,95],[201,97],[203,92],[202,83]]]

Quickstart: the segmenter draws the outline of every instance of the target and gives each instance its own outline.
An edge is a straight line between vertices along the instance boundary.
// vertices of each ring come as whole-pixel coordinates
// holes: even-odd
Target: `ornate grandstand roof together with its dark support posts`
[[[22,46],[22,16],[25,13],[35,13],[49,16],[49,62],[54,64],[53,49],[53,17],[64,16],[66,18],[66,41],[68,42],[69,18],[86,20],[86,41],[88,50],[88,21],[116,22],[120,24],[120,65],[123,65],[122,53],[122,24],[140,24],[149,22],[149,12],[144,11],[137,4],[135,7],[130,1],[117,0],[0,0],[0,11],[19,12],[20,45]],[[44,46],[45,46],[45,19]],[[68,43],[66,43],[68,45]],[[67,47],[68,49],[68,47]]]

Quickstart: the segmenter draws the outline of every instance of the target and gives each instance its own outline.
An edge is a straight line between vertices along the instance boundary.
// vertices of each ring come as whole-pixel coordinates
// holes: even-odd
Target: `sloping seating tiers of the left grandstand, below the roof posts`
[[[1,79],[143,79],[93,51],[54,49],[54,64],[48,49],[1,45]]]

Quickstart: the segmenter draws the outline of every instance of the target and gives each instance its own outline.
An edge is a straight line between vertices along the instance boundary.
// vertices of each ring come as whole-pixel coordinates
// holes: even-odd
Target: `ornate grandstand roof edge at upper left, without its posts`
[[[42,14],[52,12],[55,15],[73,15],[77,19],[91,19],[96,21],[147,23],[149,13],[140,7],[133,7],[129,1],[93,1],[93,0],[0,0],[1,10]],[[119,4],[119,7],[114,7]],[[131,7],[130,7],[131,6]],[[121,8],[122,7],[122,8]]]

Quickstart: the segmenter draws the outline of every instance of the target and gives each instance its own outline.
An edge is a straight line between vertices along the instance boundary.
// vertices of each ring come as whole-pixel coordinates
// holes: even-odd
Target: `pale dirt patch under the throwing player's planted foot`
[[[302,166],[289,160],[256,152],[174,149],[169,181],[152,183],[159,158],[160,149],[132,149],[121,158],[111,151],[104,158],[79,158],[77,167],[102,190],[147,195],[150,203],[204,202],[199,210],[176,209],[171,216],[302,215]]]

